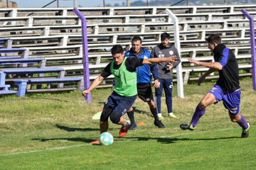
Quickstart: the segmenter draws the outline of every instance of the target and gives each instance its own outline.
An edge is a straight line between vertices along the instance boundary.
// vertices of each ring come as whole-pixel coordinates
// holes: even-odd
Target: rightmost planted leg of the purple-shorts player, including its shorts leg
[[[248,137],[250,123],[248,123],[245,116],[240,113],[240,96],[240,89],[232,93],[225,94],[223,97],[223,104],[225,108],[228,109],[230,120],[233,123],[238,123],[242,128],[241,137]]]

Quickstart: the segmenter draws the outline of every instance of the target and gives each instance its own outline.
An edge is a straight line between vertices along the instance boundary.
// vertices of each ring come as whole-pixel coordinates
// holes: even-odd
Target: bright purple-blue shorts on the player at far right
[[[239,113],[241,97],[240,89],[231,93],[225,93],[220,86],[215,84],[208,92],[215,96],[217,102],[223,101],[223,105],[228,109],[230,114],[236,115]]]

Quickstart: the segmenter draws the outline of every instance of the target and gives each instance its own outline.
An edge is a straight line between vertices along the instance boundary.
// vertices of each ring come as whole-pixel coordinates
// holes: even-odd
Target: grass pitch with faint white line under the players
[[[92,91],[90,103],[80,91],[1,97],[0,169],[255,169],[256,97],[251,79],[241,81],[240,106],[251,123],[250,137],[240,138],[241,128],[230,122],[222,103],[207,108],[196,130],[178,127],[191,120],[213,84],[186,85],[185,98],[176,96],[175,86],[178,119],[165,118],[164,129],[153,125],[148,106],[137,99],[135,118],[146,125],[118,137],[119,125],[110,123],[110,146],[90,141],[100,135],[92,115],[102,109],[111,89]],[[162,110],[166,116],[164,98]]]

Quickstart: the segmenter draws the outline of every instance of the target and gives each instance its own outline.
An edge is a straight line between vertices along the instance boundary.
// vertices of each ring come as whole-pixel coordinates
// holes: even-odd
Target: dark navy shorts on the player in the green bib
[[[132,107],[136,98],[137,95],[121,96],[116,92],[113,92],[107,98],[107,103],[105,103],[104,108],[113,108],[114,113],[119,113],[119,116],[121,117],[122,115],[124,115],[124,113],[127,113],[127,111],[129,111],[129,108]]]

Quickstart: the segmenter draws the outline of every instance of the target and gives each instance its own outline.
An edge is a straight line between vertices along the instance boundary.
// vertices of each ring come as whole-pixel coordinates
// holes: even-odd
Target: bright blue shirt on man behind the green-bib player
[[[134,53],[132,48],[124,53],[125,57],[137,57],[140,59],[150,58],[151,53],[145,48],[141,48],[139,53]],[[150,83],[151,73],[154,79],[159,79],[159,69],[157,64],[143,64],[140,67],[137,67],[137,83]]]

